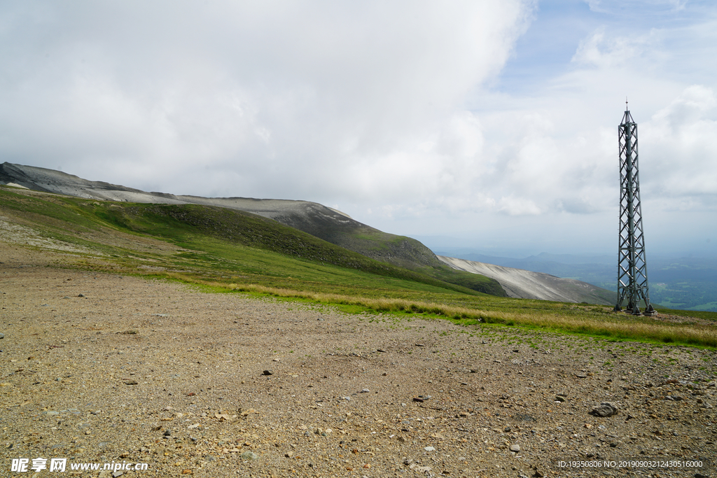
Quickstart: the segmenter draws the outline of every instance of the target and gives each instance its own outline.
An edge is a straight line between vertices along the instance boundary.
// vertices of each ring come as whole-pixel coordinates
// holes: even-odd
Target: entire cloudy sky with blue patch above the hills
[[[717,254],[713,0],[3,1],[0,162],[304,199],[434,249]]]

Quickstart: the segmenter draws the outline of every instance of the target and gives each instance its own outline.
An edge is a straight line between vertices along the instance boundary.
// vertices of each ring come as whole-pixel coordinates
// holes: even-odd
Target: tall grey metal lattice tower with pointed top
[[[640,301],[645,303],[645,315],[655,309],[650,304],[645,260],[645,234],[642,231],[642,204],[640,203],[640,175],[637,170],[637,123],[627,110],[617,127],[620,158],[620,226],[617,252],[617,303],[615,312],[627,310],[640,315]]]

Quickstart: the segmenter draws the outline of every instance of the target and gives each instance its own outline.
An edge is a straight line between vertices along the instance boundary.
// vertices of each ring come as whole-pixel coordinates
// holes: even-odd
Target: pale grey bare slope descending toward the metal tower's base
[[[542,272],[531,272],[455,257],[437,256],[454,269],[481,274],[497,280],[509,297],[612,304],[614,292],[575,279],[561,279]]]

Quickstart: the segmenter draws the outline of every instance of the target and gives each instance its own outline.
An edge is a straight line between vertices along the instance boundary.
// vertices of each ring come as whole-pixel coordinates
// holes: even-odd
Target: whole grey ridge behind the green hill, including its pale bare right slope
[[[199,204],[245,211],[273,219],[371,259],[493,295],[606,305],[612,303],[609,297],[614,295],[585,282],[536,274],[519,267],[488,267],[490,264],[478,265],[450,257],[437,257],[416,239],[379,231],[352,219],[348,214],[310,201],[204,198],[146,192],[103,181],[87,181],[62,171],[12,163],[0,165],[0,184],[95,201]]]

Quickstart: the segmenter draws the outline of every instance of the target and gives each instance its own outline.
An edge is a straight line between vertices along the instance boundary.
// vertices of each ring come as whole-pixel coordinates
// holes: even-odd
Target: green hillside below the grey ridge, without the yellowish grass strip
[[[364,290],[401,295],[402,290],[483,295],[424,274],[384,264],[305,234],[276,221],[242,211],[197,205],[156,205],[87,201],[67,196],[12,193],[3,188],[0,207],[16,211],[46,235],[95,247],[113,262],[132,269],[137,259],[186,274],[209,274],[267,287]],[[100,229],[146,234],[191,249],[171,259],[138,254],[82,239]],[[121,249],[121,248],[120,248]],[[158,264],[157,264],[158,265]]]

